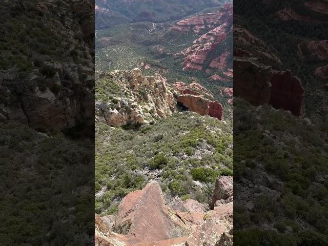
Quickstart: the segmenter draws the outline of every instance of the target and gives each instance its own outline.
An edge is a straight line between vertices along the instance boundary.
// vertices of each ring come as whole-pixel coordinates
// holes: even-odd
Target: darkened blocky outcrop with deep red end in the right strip
[[[270,104],[301,115],[304,90],[290,71],[275,71],[247,58],[235,58],[234,66],[235,96],[253,105]]]

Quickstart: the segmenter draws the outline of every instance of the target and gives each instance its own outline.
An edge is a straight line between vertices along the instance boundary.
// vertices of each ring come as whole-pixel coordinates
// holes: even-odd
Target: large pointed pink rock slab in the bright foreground
[[[171,239],[175,231],[190,231],[185,221],[166,205],[157,182],[148,183],[122,200],[115,228],[148,242]]]

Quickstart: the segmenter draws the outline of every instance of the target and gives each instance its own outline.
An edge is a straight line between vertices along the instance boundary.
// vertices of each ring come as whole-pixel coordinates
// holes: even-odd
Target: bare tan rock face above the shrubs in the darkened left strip
[[[32,91],[24,91],[17,99],[19,102],[0,106],[3,119],[18,120],[42,132],[71,128],[79,120],[88,121],[91,125],[93,121],[91,118],[94,115],[94,96],[92,89],[86,87],[86,84],[93,81],[93,69],[81,68],[74,64],[48,63],[47,66],[56,71],[52,84],[58,89],[50,90],[47,87],[41,90],[36,87]],[[81,73],[85,75],[83,80],[79,78]],[[74,88],[62,85],[66,81],[66,76],[71,78]],[[34,83],[33,80],[38,78],[34,75],[26,83]],[[10,79],[8,83],[15,83],[9,81]],[[10,90],[8,89],[5,94],[11,94]]]

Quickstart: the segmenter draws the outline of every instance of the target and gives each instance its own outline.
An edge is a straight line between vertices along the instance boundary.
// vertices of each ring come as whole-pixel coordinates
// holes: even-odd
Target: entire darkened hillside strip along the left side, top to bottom
[[[0,244],[91,245],[94,3],[1,6]]]

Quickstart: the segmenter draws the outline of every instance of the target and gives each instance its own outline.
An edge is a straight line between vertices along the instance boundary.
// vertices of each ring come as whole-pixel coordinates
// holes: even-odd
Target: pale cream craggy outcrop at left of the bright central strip
[[[96,120],[109,126],[148,123],[170,116],[176,107],[176,92],[167,87],[164,77],[143,76],[140,69],[101,76],[96,83]]]

